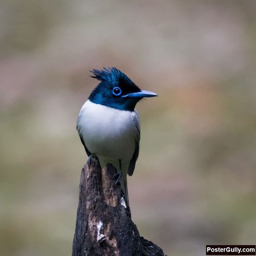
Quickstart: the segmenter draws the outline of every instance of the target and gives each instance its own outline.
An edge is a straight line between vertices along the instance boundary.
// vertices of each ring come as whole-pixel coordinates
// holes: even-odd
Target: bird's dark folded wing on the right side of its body
[[[137,130],[137,133],[134,137],[134,139],[135,139],[134,155],[133,155],[133,158],[131,159],[129,167],[128,167],[129,176],[132,176],[134,173],[135,163],[138,159],[139,149],[140,149],[140,118],[139,118],[139,114],[136,110],[134,110],[133,121],[134,121],[136,130]]]

